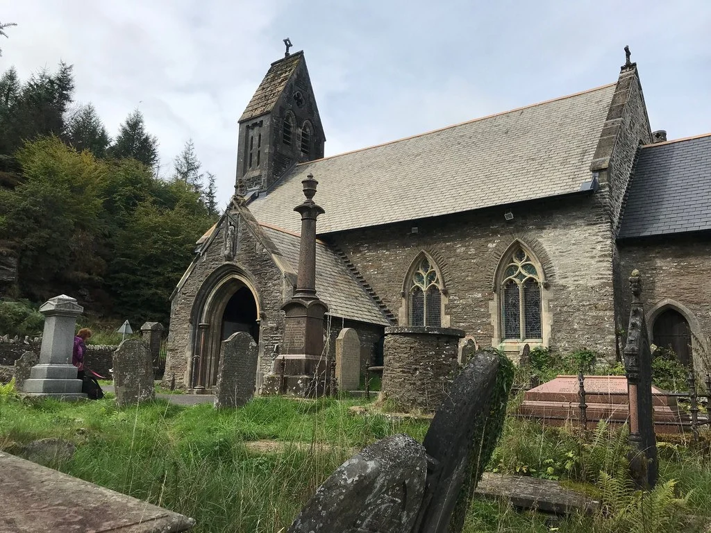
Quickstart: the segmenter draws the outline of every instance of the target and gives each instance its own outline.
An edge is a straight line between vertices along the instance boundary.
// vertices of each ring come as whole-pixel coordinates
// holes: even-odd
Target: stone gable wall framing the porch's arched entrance
[[[191,324],[193,303],[198,290],[208,276],[218,266],[225,264],[222,230],[220,228],[217,231],[220,232],[219,235],[213,240],[203,257],[198,259],[198,263],[183,284],[181,291],[176,294],[171,306],[164,379],[171,379],[174,374],[176,387],[179,388],[188,387],[189,362],[193,355],[192,335],[193,332],[197,332],[197,324]],[[260,310],[265,313],[260,323],[260,338],[264,350],[263,369],[264,372],[268,372],[274,347],[282,343],[284,313],[281,311],[281,306],[284,276],[242,220],[240,220],[239,238],[240,244],[235,263],[248,268],[248,272],[257,282],[260,291]]]

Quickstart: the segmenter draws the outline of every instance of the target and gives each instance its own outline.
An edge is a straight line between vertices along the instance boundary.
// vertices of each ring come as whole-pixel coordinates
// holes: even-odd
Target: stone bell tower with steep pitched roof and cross
[[[326,136],[304,52],[274,61],[240,117],[237,185],[268,190],[296,163],[324,157]]]

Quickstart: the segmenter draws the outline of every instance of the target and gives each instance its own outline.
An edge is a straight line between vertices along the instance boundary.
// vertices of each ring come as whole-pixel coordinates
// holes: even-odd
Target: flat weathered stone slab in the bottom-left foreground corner
[[[0,452],[0,532],[176,533],[195,524],[134,497]]]

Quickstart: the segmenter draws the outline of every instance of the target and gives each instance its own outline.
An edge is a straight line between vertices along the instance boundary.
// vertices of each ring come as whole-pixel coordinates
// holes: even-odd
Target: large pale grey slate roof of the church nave
[[[615,84],[426,134],[301,163],[249,203],[260,222],[298,232],[301,180],[319,181],[319,233],[574,193]]]

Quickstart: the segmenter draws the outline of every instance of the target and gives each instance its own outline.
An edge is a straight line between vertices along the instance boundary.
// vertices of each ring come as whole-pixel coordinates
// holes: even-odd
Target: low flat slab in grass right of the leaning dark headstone
[[[485,472],[476,495],[510,501],[514,507],[535,509],[555,515],[591,515],[600,502],[564,488],[557,481]]]

